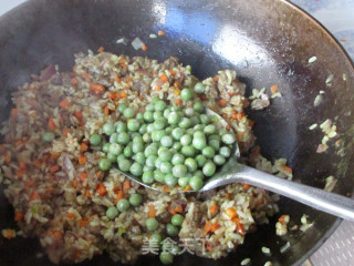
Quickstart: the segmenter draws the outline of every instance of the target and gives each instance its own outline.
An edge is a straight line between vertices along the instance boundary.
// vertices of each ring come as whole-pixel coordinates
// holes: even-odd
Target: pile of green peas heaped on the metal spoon
[[[180,95],[191,101],[192,92],[184,89]],[[102,146],[106,157],[100,161],[100,168],[107,171],[116,163],[122,172],[142,177],[148,185],[200,190],[231,155],[236,140],[205,113],[201,102],[191,103],[181,109],[154,98],[145,112],[137,114],[127,104],[119,104],[125,121],[103,126],[110,141]]]

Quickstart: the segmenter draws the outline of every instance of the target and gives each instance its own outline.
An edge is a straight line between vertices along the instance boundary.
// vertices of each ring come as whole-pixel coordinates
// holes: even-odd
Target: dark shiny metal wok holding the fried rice
[[[149,39],[165,30],[166,37]],[[131,44],[117,44],[122,37],[139,37],[146,52]],[[347,54],[333,37],[302,10],[281,0],[34,0],[0,19],[0,120],[9,117],[10,93],[49,64],[71,70],[73,54],[104,45],[106,51],[156,58],[170,55],[190,64],[199,79],[220,69],[235,69],[241,81],[252,88],[279,85],[282,99],[266,111],[250,112],[256,120],[258,144],[268,158],[287,157],[294,180],[324,187],[324,178],[334,175],[334,190],[351,195],[354,187],[354,70]],[[317,60],[309,63],[311,57]],[[346,80],[343,80],[343,73]],[[325,83],[329,75],[333,80]],[[324,90],[316,108],[313,101]],[[320,131],[313,123],[331,119],[337,125],[342,145],[316,153]],[[343,149],[339,155],[339,150]],[[0,228],[13,227],[13,211],[3,194],[0,197]],[[305,233],[274,234],[275,216],[270,225],[259,226],[246,243],[219,260],[184,255],[175,265],[239,265],[250,257],[252,265],[299,265],[337,227],[340,219],[287,198],[280,201],[280,214],[290,214],[300,224],[303,213],[314,222]],[[291,248],[280,253],[290,242]],[[266,257],[261,247],[272,250]],[[0,265],[51,265],[37,239],[0,238]],[[158,258],[143,257],[137,265],[157,265]],[[106,255],[82,265],[116,265]]]

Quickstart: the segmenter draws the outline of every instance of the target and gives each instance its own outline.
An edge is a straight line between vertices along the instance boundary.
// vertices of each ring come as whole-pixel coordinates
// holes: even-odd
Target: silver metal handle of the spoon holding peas
[[[279,178],[246,165],[241,165],[240,172],[231,174],[230,178],[233,182],[248,183],[266,188],[329,214],[354,222],[354,201],[350,197]]]

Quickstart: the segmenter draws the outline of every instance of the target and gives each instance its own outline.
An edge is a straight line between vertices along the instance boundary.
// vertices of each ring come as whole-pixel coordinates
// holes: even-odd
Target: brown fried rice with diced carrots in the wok
[[[162,83],[159,76],[167,75]],[[179,98],[181,88],[192,88],[198,79],[190,68],[170,58],[163,63],[147,58],[128,58],[108,52],[76,54],[72,72],[60,73],[49,66],[12,94],[14,109],[2,129],[0,164],[4,194],[13,205],[20,233],[35,236],[53,263],[80,263],[107,252],[114,260],[134,264],[143,254],[150,233],[145,221],[155,208],[164,234],[175,213],[185,221],[178,237],[181,245],[198,256],[220,258],[243,243],[257,224],[268,223],[278,212],[274,200],[261,188],[232,184],[204,194],[159,193],[146,190],[118,172],[101,172],[104,156],[87,145],[93,133],[119,120],[116,108],[123,102],[135,110],[158,96],[170,104],[188,106]],[[221,114],[237,135],[243,156],[254,166],[291,178],[285,161],[271,164],[253,149],[253,122],[244,115],[249,105],[246,85],[232,70],[219,71],[202,81],[206,106]],[[97,91],[96,85],[104,91]],[[100,86],[102,88],[102,86]],[[61,104],[66,99],[69,104]],[[220,101],[223,99],[225,101]],[[242,114],[233,119],[233,113]],[[43,143],[44,132],[55,139]],[[98,191],[103,187],[104,191]],[[106,209],[116,204],[118,194],[128,198],[139,193],[140,206],[121,213],[115,219]],[[214,211],[210,212],[211,206]],[[235,208],[237,218],[226,209]],[[186,239],[202,239],[190,245]]]

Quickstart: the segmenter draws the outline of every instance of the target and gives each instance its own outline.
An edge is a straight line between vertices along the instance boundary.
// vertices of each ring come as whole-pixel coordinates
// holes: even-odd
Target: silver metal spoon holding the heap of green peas
[[[220,125],[227,125],[227,122],[214,111],[207,109],[206,113],[212,115],[214,119],[217,119]],[[274,192],[282,196],[287,196],[341,218],[354,222],[354,201],[352,198],[283,180],[240,164],[238,163],[240,152],[237,142],[233,144],[233,154],[230,156],[230,158],[228,158],[227,163],[223,164],[212,177],[207,180],[205,185],[198,192],[207,192],[209,190],[232,183],[247,183]],[[115,168],[143,186],[152,190],[160,190],[158,186],[155,187],[143,183],[139,177],[119,171],[117,166],[115,166]]]

